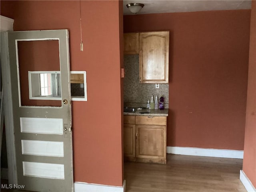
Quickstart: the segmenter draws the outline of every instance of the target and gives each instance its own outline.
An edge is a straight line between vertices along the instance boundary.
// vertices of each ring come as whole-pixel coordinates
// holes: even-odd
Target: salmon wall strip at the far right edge
[[[256,1],[252,1],[243,171],[256,188]]]

